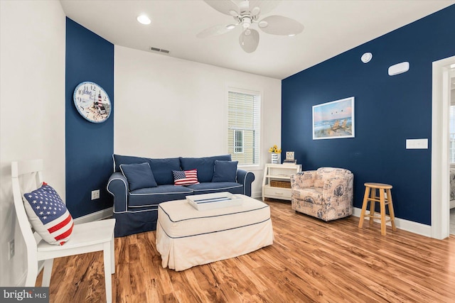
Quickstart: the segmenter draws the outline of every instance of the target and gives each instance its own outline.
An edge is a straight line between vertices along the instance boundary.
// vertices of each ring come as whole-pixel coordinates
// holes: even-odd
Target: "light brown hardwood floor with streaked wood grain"
[[[266,202],[272,246],[183,272],[161,267],[155,231],[116,238],[114,302],[455,302],[454,235],[381,236],[354,216],[326,223]],[[104,302],[102,264],[102,253],[55,259],[50,302]]]

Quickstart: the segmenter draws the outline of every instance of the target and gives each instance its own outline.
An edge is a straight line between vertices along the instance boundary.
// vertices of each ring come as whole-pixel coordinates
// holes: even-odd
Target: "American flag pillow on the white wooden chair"
[[[55,189],[43,182],[33,192],[24,194],[28,220],[49,244],[63,245],[73,232],[73,217]]]

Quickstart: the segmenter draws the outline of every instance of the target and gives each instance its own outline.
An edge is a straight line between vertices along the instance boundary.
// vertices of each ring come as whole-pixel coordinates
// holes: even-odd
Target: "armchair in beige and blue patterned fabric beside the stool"
[[[291,206],[323,221],[353,214],[354,175],[349,170],[321,167],[291,175]]]

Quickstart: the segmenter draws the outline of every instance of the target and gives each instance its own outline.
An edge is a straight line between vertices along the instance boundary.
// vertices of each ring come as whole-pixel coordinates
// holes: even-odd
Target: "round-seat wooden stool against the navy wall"
[[[376,196],[376,189],[379,189],[379,197]],[[373,226],[374,219],[381,220],[381,235],[385,236],[385,224],[390,222],[392,224],[392,231],[397,231],[395,227],[395,214],[393,212],[393,204],[392,204],[392,193],[390,192],[392,189],[392,185],[389,184],[382,184],[382,183],[365,183],[365,196],[363,196],[363,205],[362,205],[362,212],[360,213],[360,221],[358,223],[358,227],[363,227],[363,219],[365,216],[370,217],[370,226]],[[387,198],[385,198],[385,192],[387,192]],[[370,201],[370,214],[365,214],[367,209],[368,201]],[[375,203],[380,203],[380,216],[375,216]],[[389,206],[389,220],[385,220],[385,206]]]

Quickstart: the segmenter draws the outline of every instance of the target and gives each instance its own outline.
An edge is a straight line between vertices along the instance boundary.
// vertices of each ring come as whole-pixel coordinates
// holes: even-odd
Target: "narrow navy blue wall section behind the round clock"
[[[100,85],[112,103],[111,116],[91,123],[77,112],[73,92],[84,81]],[[65,70],[66,205],[74,218],[112,206],[106,185],[114,151],[114,45],[66,18]],[[91,200],[100,189],[100,199]]]

